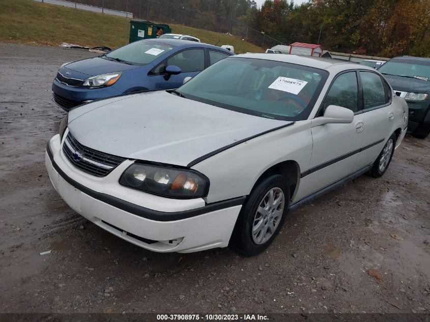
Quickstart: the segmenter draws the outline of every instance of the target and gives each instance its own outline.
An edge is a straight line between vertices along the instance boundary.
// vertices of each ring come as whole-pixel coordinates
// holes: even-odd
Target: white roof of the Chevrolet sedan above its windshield
[[[277,62],[283,62],[283,63],[303,65],[303,66],[309,66],[309,67],[314,67],[314,68],[319,68],[324,70],[329,70],[329,69],[348,70],[348,69],[357,69],[357,68],[375,70],[371,67],[367,67],[364,65],[360,65],[360,67],[358,67],[358,64],[350,63],[347,61],[335,60],[332,58],[303,56],[303,55],[250,53],[250,54],[236,55],[235,57],[264,59],[268,61],[277,61]]]

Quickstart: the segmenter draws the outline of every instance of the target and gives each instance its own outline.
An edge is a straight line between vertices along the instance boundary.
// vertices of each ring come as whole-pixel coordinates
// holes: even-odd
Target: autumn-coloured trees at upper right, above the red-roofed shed
[[[392,57],[430,56],[430,0],[267,0],[240,17],[286,44]],[[320,34],[321,33],[321,34]]]

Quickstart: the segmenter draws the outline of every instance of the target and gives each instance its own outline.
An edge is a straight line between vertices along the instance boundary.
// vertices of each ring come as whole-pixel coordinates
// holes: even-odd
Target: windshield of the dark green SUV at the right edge
[[[381,66],[382,74],[406,76],[430,81],[430,63],[419,61],[390,61]]]

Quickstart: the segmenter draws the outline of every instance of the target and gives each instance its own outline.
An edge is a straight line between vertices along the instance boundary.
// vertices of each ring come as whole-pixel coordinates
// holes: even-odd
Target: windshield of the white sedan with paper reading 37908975
[[[306,120],[328,77],[312,67],[229,57],[182,85],[185,98],[277,120]]]

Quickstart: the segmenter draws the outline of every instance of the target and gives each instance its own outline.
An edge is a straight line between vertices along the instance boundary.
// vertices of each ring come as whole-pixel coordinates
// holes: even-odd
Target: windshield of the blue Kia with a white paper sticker
[[[139,40],[113,50],[104,55],[103,58],[111,58],[136,65],[147,65],[174,47],[155,41]]]

